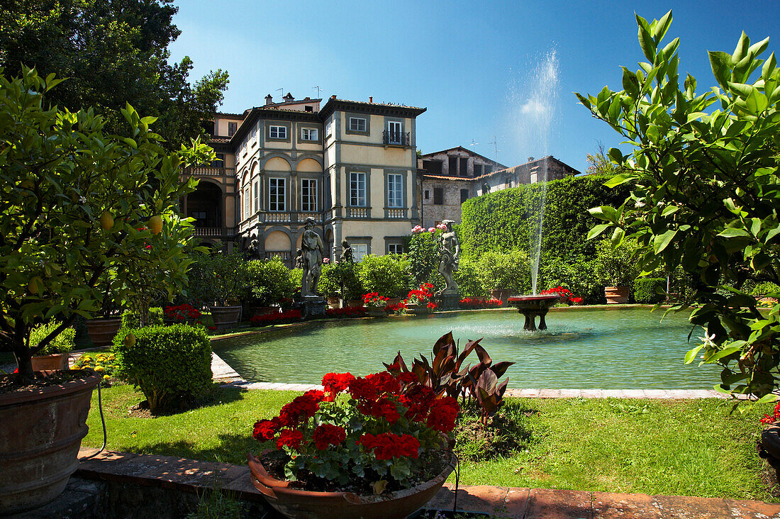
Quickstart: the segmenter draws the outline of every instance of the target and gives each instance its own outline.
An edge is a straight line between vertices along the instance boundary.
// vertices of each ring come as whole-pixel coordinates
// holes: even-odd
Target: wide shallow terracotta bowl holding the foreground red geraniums
[[[455,469],[456,459],[448,453],[449,463],[441,474],[411,489],[380,496],[359,496],[353,492],[310,492],[289,489],[289,482],[268,474],[261,461],[247,454],[252,482],[266,501],[286,517],[339,517],[339,519],[400,519],[408,517],[433,499],[447,476]]]

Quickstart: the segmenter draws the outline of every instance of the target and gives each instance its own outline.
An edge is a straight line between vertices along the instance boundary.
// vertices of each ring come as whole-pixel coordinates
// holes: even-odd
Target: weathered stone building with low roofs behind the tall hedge
[[[496,169],[492,169],[491,165],[495,165]],[[435,226],[445,219],[459,223],[460,205],[471,197],[520,184],[557,180],[580,174],[552,155],[539,159],[529,157],[525,164],[507,168],[461,147],[421,155],[417,160],[417,167],[420,221],[424,227]],[[453,176],[445,174],[445,171],[459,174]],[[464,174],[461,175],[461,172]],[[481,174],[476,175],[476,172]]]

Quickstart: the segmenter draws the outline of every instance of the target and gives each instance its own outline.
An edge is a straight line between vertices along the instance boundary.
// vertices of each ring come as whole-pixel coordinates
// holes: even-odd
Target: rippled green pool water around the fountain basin
[[[683,363],[703,331],[693,330],[688,343],[687,315],[662,316],[647,307],[551,311],[545,332],[523,331],[523,316],[509,310],[314,321],[218,341],[214,349],[251,382],[318,384],[331,371],[381,371],[399,350],[407,364],[419,354],[430,359],[436,339],[452,330],[461,347],[483,337],[494,362],[515,362],[506,371],[512,388],[711,389],[717,366]]]

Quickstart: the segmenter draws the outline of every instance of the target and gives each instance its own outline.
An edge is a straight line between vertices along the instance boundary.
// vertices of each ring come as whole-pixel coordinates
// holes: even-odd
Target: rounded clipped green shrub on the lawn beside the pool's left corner
[[[119,375],[140,388],[153,413],[184,407],[211,386],[211,343],[203,327],[120,330],[113,350]]]

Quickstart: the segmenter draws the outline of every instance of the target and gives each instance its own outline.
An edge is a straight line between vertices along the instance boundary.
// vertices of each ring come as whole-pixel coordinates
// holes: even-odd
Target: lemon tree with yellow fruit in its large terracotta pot
[[[57,83],[34,69],[0,76],[0,352],[18,366],[0,378],[0,515],[65,489],[99,379],[87,369],[36,372],[34,355],[76,316],[99,310],[98,280],[109,272],[122,299],[132,297],[125,281],[138,268],[165,272],[169,287],[186,283],[192,228],[176,215],[197,181],[181,182],[179,168],[213,157],[200,144],[163,155],[154,118],[129,105],[122,115],[133,137],[110,137],[91,109],[48,107]]]

